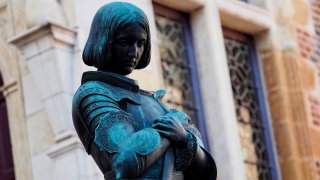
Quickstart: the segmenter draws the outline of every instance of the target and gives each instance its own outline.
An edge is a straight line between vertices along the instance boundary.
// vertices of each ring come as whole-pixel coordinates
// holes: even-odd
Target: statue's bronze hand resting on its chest
[[[170,110],[166,115],[155,119],[152,127],[174,145],[185,146],[187,144],[188,132],[184,126],[187,125],[188,118],[188,115],[184,112]]]

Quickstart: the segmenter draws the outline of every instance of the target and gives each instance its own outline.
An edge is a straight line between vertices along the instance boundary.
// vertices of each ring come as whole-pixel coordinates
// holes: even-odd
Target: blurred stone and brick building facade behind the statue
[[[71,101],[108,2],[0,0],[0,179],[103,179]],[[219,179],[320,178],[320,0],[128,2],[146,12],[153,47],[131,77],[193,117]]]

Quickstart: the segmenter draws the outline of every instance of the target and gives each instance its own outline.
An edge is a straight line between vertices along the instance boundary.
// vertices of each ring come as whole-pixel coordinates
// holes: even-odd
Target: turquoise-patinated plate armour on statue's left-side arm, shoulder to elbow
[[[101,153],[111,155],[110,162],[105,163],[110,163],[116,177],[138,176],[146,168],[146,155],[160,145],[159,133],[153,128],[137,131],[131,114],[120,108],[120,101],[139,104],[138,95],[107,84],[90,83],[76,93],[74,111]],[[88,152],[90,147],[84,145]]]

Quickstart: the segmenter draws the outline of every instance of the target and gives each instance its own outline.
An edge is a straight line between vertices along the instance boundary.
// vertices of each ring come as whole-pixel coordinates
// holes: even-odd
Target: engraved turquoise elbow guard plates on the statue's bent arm
[[[109,153],[132,151],[147,155],[153,152],[160,145],[158,132],[153,128],[145,128],[134,133],[132,124],[132,117],[126,112],[110,112],[99,122],[94,142],[101,151]]]

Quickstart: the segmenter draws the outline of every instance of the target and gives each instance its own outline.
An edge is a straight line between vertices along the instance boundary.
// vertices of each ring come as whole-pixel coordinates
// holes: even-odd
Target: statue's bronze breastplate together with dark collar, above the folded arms
[[[82,83],[98,81],[113,92],[112,98],[119,101],[122,110],[132,115],[136,130],[151,127],[155,118],[165,115],[169,109],[161,102],[164,90],[156,92],[140,90],[134,80],[121,79],[119,75],[105,72],[86,72]]]

